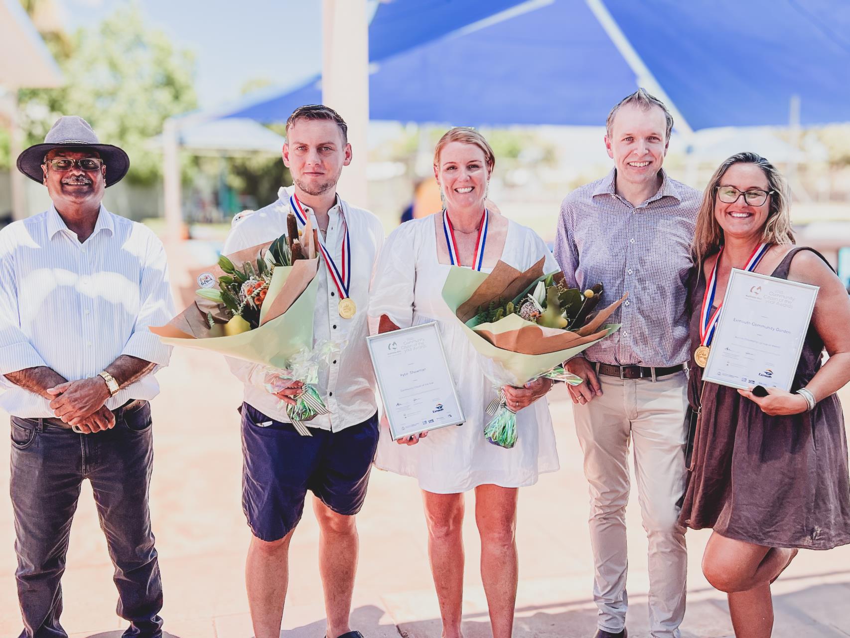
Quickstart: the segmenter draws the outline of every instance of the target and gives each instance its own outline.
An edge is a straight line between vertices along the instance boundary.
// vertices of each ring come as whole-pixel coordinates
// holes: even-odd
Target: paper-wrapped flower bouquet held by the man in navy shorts
[[[313,310],[319,281],[315,237],[287,219],[287,234],[236,253],[222,255],[197,277],[195,301],[165,326],[152,327],[163,343],[259,363],[269,369],[267,390],[303,382],[297,405],[287,405],[292,424],[304,436],[303,422],[326,414],[315,384],[318,367],[332,355],[314,347]]]

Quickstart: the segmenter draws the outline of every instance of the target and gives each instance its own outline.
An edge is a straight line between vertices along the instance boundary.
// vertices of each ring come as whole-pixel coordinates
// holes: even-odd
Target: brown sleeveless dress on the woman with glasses
[[[801,250],[811,248],[791,250],[773,276],[787,279],[791,259]],[[690,282],[693,362],[706,281],[694,269]],[[823,340],[810,327],[792,392],[819,370],[823,350]],[[700,394],[696,425],[690,417],[698,413]],[[850,543],[847,437],[836,395],[811,413],[771,417],[734,388],[703,384],[702,368],[694,364],[688,399],[693,470],[679,516],[684,526],[711,527],[727,538],[766,547],[829,550]]]

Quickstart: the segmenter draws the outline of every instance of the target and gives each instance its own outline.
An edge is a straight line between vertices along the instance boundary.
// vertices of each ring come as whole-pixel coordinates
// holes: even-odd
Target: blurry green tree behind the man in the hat
[[[27,142],[42,141],[60,115],[80,115],[100,140],[127,151],[127,179],[153,182],[160,175],[161,153],[148,140],[161,133],[168,117],[196,106],[193,55],[147,26],[134,4],[120,5],[99,25],[77,30],[67,44],[58,37],[47,42],[65,86],[20,92]]]

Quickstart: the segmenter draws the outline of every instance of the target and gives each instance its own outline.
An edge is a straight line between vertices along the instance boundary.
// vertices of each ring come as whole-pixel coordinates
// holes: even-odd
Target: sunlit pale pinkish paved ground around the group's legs
[[[165,628],[182,638],[252,635],[243,580],[248,530],[241,512],[240,390],[218,356],[175,350],[159,373],[153,404],[156,461],[151,510],[165,585]],[[850,396],[846,397],[850,400]],[[564,389],[551,398],[561,470],[525,488],[519,499],[520,584],[515,635],[590,636],[592,561],[587,538],[587,485]],[[0,415],[0,423],[5,423]],[[0,437],[8,459],[8,436]],[[0,492],[8,493],[8,471]],[[471,496],[469,497],[472,498]],[[467,511],[472,511],[472,507]],[[628,626],[647,633],[646,540],[637,502],[628,510],[630,555]],[[359,517],[361,557],[354,627],[369,638],[436,638],[439,618],[425,549],[422,505],[415,481],[375,471]],[[466,521],[467,638],[489,635],[478,573],[479,543]],[[683,633],[690,638],[732,634],[723,595],[700,573],[706,533],[688,533],[689,604]],[[0,498],[0,636],[18,635],[14,588],[14,531],[8,497]],[[320,638],[324,611],[316,568],[317,530],[304,516],[292,541],[291,584],[284,614],[286,638]],[[117,636],[112,567],[85,484],[63,579],[63,623],[74,638]],[[850,548],[802,551],[775,585],[776,636],[850,635]]]

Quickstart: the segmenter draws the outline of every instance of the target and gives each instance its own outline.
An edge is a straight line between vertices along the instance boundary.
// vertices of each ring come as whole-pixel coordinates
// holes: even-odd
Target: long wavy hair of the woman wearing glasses
[[[768,195],[770,207],[768,221],[762,229],[762,242],[796,243],[794,231],[791,229],[791,190],[788,188],[788,182],[764,157],[751,152],[736,153],[725,160],[711,175],[702,198],[700,212],[696,216],[693,252],[694,260],[700,267],[703,259],[716,253],[723,245],[723,229],[714,217],[714,198],[720,180],[734,164],[755,164],[768,178],[768,191],[772,192]]]

